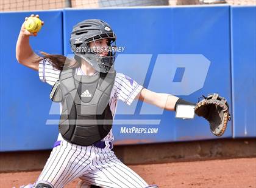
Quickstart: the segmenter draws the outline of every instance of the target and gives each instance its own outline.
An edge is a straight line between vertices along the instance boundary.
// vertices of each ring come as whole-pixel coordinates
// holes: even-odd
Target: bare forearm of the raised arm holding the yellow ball
[[[18,62],[23,64],[26,59],[29,59],[33,55],[34,51],[30,47],[29,36],[24,35],[22,32],[20,32],[16,43],[16,59],[18,60]]]

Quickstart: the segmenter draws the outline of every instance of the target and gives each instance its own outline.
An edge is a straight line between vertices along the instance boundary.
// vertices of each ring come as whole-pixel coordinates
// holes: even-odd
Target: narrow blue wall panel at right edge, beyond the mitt
[[[234,138],[256,136],[256,7],[231,7]]]

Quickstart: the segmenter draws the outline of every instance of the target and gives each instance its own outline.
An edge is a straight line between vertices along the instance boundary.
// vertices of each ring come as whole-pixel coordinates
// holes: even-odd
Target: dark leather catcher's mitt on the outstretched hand
[[[230,121],[229,104],[227,100],[218,93],[209,94],[197,102],[194,113],[203,116],[210,124],[213,135],[221,136],[226,130],[227,121]]]

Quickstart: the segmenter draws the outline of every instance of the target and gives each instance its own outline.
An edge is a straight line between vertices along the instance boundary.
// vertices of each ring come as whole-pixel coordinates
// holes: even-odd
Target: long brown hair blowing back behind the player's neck
[[[43,59],[49,59],[49,61],[51,61],[52,66],[55,69],[58,70],[63,70],[63,68],[76,68],[76,67],[80,67],[81,65],[81,59],[79,58],[79,56],[74,56],[74,59],[69,59],[66,56],[63,55],[50,55],[49,53],[46,52],[40,52],[41,55],[43,55],[42,58],[40,58],[40,60]]]

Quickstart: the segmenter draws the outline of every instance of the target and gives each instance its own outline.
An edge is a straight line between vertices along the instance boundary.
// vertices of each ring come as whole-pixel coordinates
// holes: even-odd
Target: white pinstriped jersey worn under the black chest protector
[[[53,86],[55,82],[59,79],[60,70],[54,69],[51,62],[48,59],[44,59],[39,62],[38,73],[41,81],[46,82],[51,86]],[[94,75],[98,73],[99,72],[96,72]],[[82,69],[80,69],[79,67],[76,69],[76,75],[85,75],[85,74],[84,72],[82,72]],[[143,89],[143,86],[138,84],[129,76],[124,75],[123,73],[116,73],[115,84],[113,86],[112,92],[110,94],[110,99],[109,99],[109,106],[112,112],[113,119],[115,118],[117,101],[121,100],[126,104],[130,105],[132,104],[132,101],[135,99],[138,93],[140,93],[141,89]],[[58,136],[58,140],[63,140],[62,135],[60,133]],[[108,135],[105,136],[104,139],[102,139],[102,141],[113,141],[113,140],[114,140],[114,137],[111,129]]]

